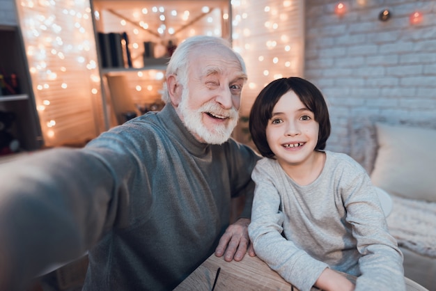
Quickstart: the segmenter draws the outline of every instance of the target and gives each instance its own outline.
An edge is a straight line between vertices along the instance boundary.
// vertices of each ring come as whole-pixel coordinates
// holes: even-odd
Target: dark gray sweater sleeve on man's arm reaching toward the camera
[[[0,184],[0,290],[24,290],[42,269],[79,258],[127,204],[104,162],[79,149],[2,164]]]

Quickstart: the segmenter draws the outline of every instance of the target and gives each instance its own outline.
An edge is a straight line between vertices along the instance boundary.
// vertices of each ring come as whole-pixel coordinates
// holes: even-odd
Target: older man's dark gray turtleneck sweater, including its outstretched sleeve
[[[11,198],[0,203],[0,253],[19,282],[92,247],[84,290],[171,290],[215,251],[231,197],[251,196],[249,217],[258,159],[232,139],[199,143],[167,105],[84,149],[0,167]]]

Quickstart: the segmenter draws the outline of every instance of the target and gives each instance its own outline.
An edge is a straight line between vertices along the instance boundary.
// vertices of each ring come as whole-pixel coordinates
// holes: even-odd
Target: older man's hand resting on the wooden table
[[[219,244],[215,250],[215,255],[221,257],[224,255],[224,260],[231,262],[240,261],[244,258],[245,253],[248,253],[251,257],[254,257],[253,245],[250,243],[248,236],[248,225],[250,219],[239,219],[235,223],[228,226],[224,235],[219,239]]]

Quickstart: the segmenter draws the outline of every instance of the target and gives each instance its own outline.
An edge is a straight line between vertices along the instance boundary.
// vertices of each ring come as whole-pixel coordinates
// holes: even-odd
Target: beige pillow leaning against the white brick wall
[[[371,180],[389,194],[436,202],[436,130],[376,123]]]

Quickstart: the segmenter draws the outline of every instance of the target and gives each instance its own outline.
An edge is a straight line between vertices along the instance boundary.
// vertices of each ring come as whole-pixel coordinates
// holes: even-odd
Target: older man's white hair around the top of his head
[[[180,43],[180,45],[178,45],[171,56],[171,59],[166,67],[166,78],[168,78],[169,75],[174,74],[177,76],[178,83],[185,87],[188,81],[187,78],[190,61],[189,54],[197,47],[204,47],[204,49],[208,49],[208,47],[216,46],[224,46],[231,49],[230,42],[224,40],[224,38],[218,38],[215,36],[192,36],[187,38],[185,41]],[[232,51],[241,64],[242,72],[247,74],[247,69],[245,68],[245,63],[242,59],[242,56],[240,56],[240,54],[235,52],[233,49]],[[166,83],[164,83],[164,88],[162,88],[162,100],[165,103],[171,102]]]

